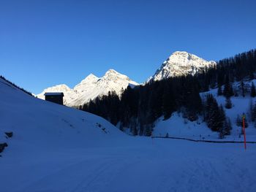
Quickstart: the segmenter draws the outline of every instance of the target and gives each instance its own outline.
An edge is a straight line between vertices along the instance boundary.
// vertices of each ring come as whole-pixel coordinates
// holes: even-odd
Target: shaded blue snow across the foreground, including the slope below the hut
[[[0,191],[256,191],[256,145],[130,137],[0,80]],[[6,139],[5,131],[13,131]]]

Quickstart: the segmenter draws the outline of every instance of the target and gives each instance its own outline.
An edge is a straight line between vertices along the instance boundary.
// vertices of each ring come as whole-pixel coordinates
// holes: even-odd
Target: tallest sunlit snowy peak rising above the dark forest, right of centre
[[[215,65],[215,61],[206,61],[191,53],[176,51],[164,61],[162,66],[157,69],[157,72],[148,79],[148,82],[187,74],[195,75],[197,72]]]

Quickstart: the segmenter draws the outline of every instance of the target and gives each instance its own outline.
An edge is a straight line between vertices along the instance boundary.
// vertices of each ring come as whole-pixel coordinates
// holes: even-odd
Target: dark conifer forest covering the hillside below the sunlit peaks
[[[80,106],[80,110],[99,115],[121,129],[130,128],[134,135],[146,136],[151,136],[154,122],[161,116],[168,119],[178,111],[183,118],[194,121],[202,115],[207,126],[212,131],[219,131],[222,138],[230,134],[230,120],[213,96],[208,95],[206,101],[202,101],[200,92],[218,88],[218,95],[226,97],[225,107],[232,107],[230,97],[238,96],[233,90],[233,82],[241,83],[241,96],[244,96],[244,81],[255,79],[255,72],[256,50],[249,50],[218,61],[216,67],[205,69],[195,76],[151,81],[135,88],[128,86],[120,97],[115,92],[109,92],[108,96]],[[254,97],[255,85],[251,89],[251,96]]]

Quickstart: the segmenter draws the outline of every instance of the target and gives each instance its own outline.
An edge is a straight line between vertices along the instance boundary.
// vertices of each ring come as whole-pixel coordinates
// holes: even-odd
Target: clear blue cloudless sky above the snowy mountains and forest
[[[0,74],[32,93],[108,69],[144,82],[176,50],[256,48],[256,1],[0,1]]]

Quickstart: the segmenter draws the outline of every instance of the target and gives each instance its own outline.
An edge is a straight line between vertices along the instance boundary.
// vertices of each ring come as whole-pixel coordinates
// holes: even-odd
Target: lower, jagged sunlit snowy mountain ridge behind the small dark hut
[[[97,96],[107,95],[109,91],[116,91],[121,94],[121,89],[127,86],[138,85],[124,74],[120,74],[113,69],[108,70],[103,77],[96,77],[94,74],[89,74],[75,88],[71,89],[67,85],[56,85],[47,88],[42,93],[37,95],[38,98],[44,99],[45,92],[63,92],[64,104],[69,107],[78,107],[90,99],[95,99]]]

